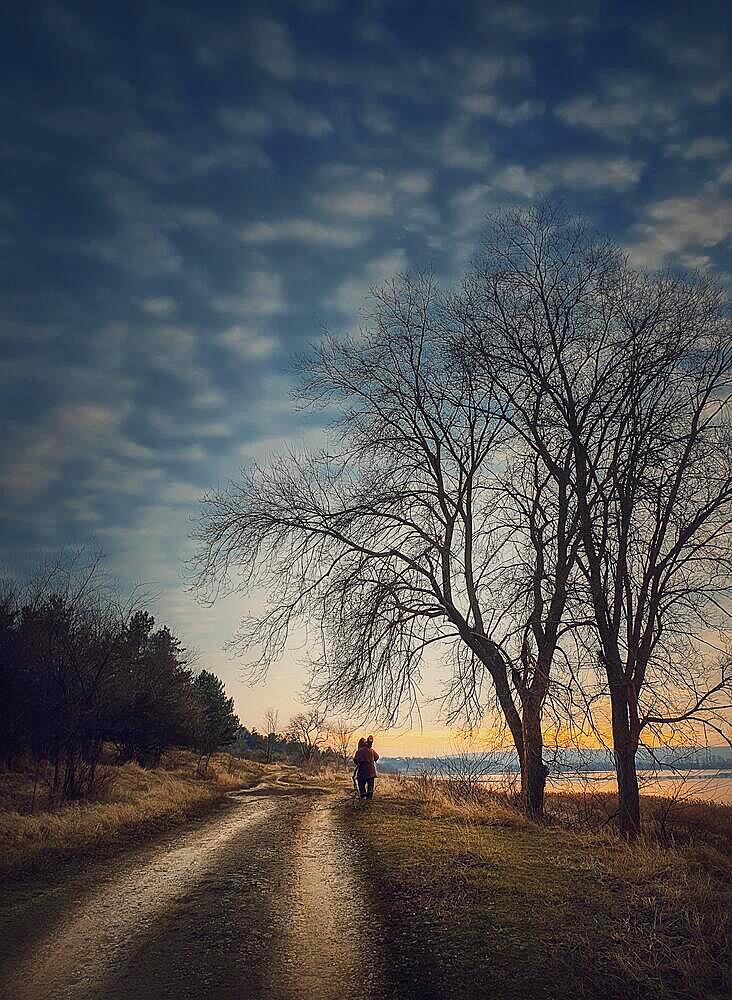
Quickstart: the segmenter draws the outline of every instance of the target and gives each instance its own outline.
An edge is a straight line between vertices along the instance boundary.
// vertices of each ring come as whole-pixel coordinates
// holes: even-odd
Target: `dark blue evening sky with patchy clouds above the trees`
[[[101,548],[246,724],[286,719],[304,650],[249,688],[222,648],[247,606],[186,590],[201,494],[317,444],[292,355],[395,272],[455,278],[491,211],[561,200],[640,266],[730,280],[731,20],[672,0],[6,10],[6,568]],[[392,752],[447,739],[425,719]]]

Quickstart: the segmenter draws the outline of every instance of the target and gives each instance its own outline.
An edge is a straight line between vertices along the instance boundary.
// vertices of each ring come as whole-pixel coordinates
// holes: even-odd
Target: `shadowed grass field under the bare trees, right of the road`
[[[705,811],[712,843],[628,846],[607,828],[539,827],[488,798],[382,778],[378,798],[343,806],[341,820],[404,998],[721,1000],[732,981],[729,810],[697,806],[700,828]]]

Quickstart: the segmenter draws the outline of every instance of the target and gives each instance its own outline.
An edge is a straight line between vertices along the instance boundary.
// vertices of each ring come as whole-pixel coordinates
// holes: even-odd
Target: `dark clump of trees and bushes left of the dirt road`
[[[205,759],[239,729],[222,682],[83,555],[2,585],[0,716],[0,760],[30,757],[51,803],[90,796],[110,746],[149,767],[174,745]]]

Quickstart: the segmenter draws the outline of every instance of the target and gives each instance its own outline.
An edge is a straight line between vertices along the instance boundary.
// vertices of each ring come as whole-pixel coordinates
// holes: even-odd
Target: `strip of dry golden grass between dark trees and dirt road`
[[[28,812],[32,773],[0,774],[0,873],[27,871],[54,858],[175,826],[204,812],[228,791],[256,784],[269,768],[234,759],[230,770],[228,754],[222,754],[212,758],[205,777],[198,777],[196,770],[197,758],[184,750],[169,754],[156,770],[105,765],[97,801],[33,815]]]

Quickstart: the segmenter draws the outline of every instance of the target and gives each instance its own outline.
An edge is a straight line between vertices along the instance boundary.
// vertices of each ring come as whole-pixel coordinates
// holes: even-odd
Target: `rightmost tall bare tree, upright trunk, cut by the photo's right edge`
[[[459,351],[579,525],[591,624],[577,614],[574,634],[606,685],[620,826],[634,836],[643,735],[730,738],[725,297],[709,278],[639,273],[543,208],[496,219],[458,310]]]

